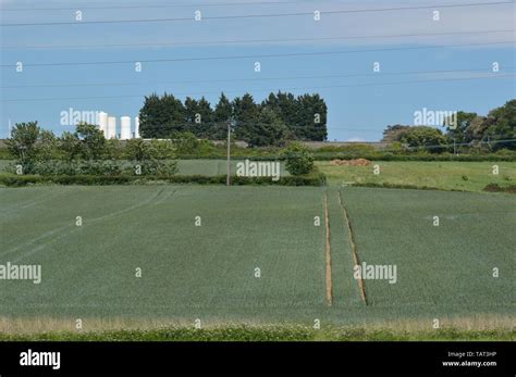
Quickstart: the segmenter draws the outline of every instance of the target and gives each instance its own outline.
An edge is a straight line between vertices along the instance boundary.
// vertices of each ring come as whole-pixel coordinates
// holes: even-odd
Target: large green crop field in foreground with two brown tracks
[[[0,208],[0,265],[41,266],[40,284],[0,280],[0,331],[75,318],[514,328],[511,194],[51,186],[1,188]],[[395,265],[396,281],[365,278],[365,301],[354,252]]]

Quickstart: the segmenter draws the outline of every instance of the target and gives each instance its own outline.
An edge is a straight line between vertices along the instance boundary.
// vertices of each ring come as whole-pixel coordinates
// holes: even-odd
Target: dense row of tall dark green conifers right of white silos
[[[139,111],[144,138],[175,138],[189,131],[198,138],[223,140],[228,125],[250,146],[282,146],[287,140],[323,141],[328,137],[328,108],[319,95],[270,93],[261,103],[245,93],[230,101],[221,93],[214,109],[202,97],[184,103],[173,95],[146,97]]]

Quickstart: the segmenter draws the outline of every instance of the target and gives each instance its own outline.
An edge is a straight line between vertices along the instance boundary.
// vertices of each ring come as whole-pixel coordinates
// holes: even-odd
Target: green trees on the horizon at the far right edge
[[[490,111],[487,116],[459,111],[455,121],[456,126],[446,126],[444,131],[428,126],[388,126],[382,141],[429,148],[433,152],[450,149],[453,143],[516,150],[516,100]]]

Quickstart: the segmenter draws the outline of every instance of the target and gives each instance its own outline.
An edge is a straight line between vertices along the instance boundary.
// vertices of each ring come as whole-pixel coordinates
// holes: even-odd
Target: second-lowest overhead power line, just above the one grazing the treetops
[[[247,81],[274,81],[274,80],[293,80],[293,79],[324,79],[324,78],[343,78],[343,77],[382,77],[382,76],[400,76],[400,75],[427,75],[427,74],[449,74],[449,73],[470,73],[486,72],[493,75],[514,70],[513,66],[504,66],[499,73],[493,73],[491,67],[483,68],[465,68],[465,70],[438,70],[438,71],[406,71],[406,72],[379,72],[379,73],[349,73],[341,75],[312,75],[312,76],[281,76],[281,77],[262,77],[262,78],[218,78],[218,79],[191,79],[191,80],[160,80],[146,83],[69,83],[69,84],[36,84],[36,85],[4,85],[0,89],[24,89],[24,88],[76,88],[76,87],[116,87],[116,86],[147,86],[147,85],[170,85],[170,84],[210,84],[210,83],[247,83]]]

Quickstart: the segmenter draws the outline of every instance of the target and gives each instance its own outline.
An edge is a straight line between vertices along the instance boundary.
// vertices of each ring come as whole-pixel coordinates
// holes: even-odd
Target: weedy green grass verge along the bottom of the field
[[[49,331],[41,334],[0,334],[0,341],[511,341],[516,330],[439,330],[366,329],[363,327],[330,327],[315,330],[306,326],[272,327],[163,327],[107,331]]]

